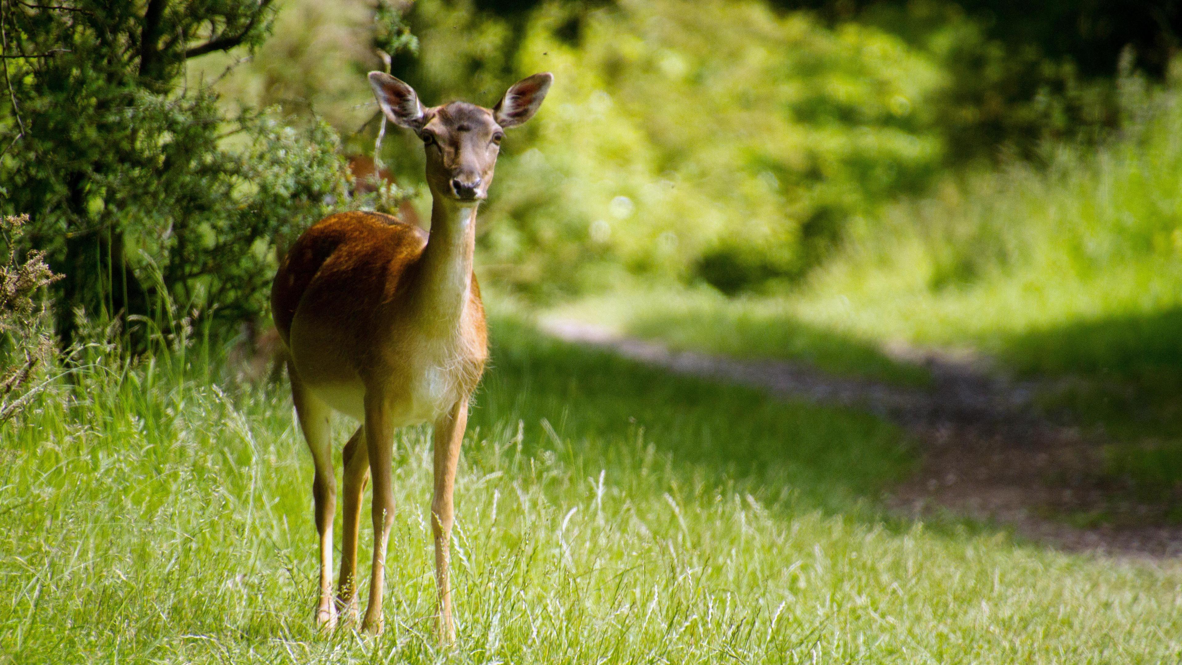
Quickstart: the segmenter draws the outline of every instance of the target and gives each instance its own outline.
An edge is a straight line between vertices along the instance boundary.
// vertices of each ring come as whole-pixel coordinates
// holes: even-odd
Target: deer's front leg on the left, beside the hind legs
[[[381,396],[365,395],[365,447],[374,478],[374,566],[370,598],[362,630],[382,632],[382,587],[385,583],[385,551],[394,527],[394,428]]]

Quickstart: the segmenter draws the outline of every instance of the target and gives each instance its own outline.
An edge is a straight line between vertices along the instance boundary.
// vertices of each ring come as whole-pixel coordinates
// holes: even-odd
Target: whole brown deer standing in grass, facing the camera
[[[320,548],[316,621],[323,628],[336,627],[338,619],[357,621],[357,535],[362,493],[372,479],[372,568],[362,630],[382,632],[395,516],[394,433],[430,422],[435,622],[440,641],[450,644],[455,473],[468,403],[488,359],[485,308],[473,272],[476,209],[488,195],[505,130],[533,117],[553,76],[543,72],[519,80],[492,109],[467,102],[424,108],[410,85],[388,73],[370,72],[369,82],[385,118],[423,142],[430,231],[376,212],[329,215],[291,246],[271,291],[292,402],[314,466]],[[336,599],[333,412],[359,421],[342,450],[344,527]]]

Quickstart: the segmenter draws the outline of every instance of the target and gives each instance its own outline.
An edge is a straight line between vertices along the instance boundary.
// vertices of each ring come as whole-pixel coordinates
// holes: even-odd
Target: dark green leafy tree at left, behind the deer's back
[[[335,133],[272,115],[226,117],[186,62],[249,51],[272,0],[0,0],[0,212],[56,272],[72,312],[222,319],[261,311],[275,237],[345,196]]]

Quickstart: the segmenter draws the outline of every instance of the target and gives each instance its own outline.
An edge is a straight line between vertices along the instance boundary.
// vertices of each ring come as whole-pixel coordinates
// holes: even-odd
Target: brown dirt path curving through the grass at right
[[[1032,403],[1037,385],[999,379],[972,357],[894,349],[897,357],[931,372],[931,387],[920,389],[833,376],[805,363],[671,351],[661,343],[570,319],[544,319],[541,327],[561,340],[611,349],[680,374],[864,408],[897,422],[923,446],[920,471],[888,499],[908,515],[952,511],[994,521],[1072,551],[1182,555],[1182,527],[1160,525],[1164,506],[1118,498],[1091,471],[1100,463],[1102,439],[1039,413]],[[1073,527],[1063,517],[1102,512],[1111,516],[1110,524]]]

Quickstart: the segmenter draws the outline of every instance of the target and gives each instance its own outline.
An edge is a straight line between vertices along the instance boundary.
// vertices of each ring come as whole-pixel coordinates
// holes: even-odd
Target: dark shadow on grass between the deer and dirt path
[[[900,428],[866,413],[674,375],[504,318],[493,340],[472,425],[520,419],[524,446],[569,447],[587,478],[639,440],[690,491],[882,521],[876,499],[917,459]]]

